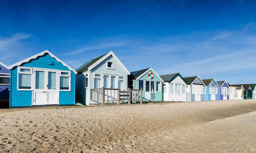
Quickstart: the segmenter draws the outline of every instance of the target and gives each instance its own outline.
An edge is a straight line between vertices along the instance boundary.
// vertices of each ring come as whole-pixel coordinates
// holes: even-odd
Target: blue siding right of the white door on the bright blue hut
[[[75,73],[71,71],[71,89],[70,91],[60,91],[60,105],[75,104]]]

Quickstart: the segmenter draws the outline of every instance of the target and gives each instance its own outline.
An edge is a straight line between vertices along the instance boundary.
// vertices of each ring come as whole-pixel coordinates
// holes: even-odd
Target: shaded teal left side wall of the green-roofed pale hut
[[[79,73],[76,75],[76,102],[80,102],[85,105],[85,75]]]

